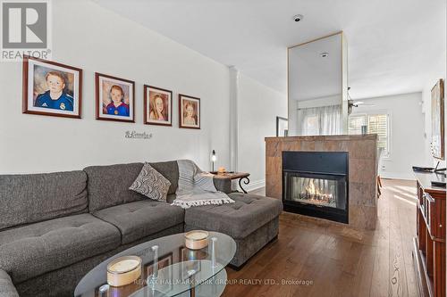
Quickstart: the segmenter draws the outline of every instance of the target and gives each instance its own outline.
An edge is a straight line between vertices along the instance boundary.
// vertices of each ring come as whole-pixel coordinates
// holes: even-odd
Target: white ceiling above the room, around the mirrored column
[[[445,0],[94,1],[283,93],[287,46],[340,30],[354,99],[421,91],[446,54]]]

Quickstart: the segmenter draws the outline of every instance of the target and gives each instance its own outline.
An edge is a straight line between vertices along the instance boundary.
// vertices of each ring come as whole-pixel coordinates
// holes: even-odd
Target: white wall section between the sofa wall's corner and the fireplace
[[[265,186],[264,137],[276,136],[276,116],[287,118],[287,97],[240,74],[238,102],[238,169],[250,172],[249,189],[254,189]]]

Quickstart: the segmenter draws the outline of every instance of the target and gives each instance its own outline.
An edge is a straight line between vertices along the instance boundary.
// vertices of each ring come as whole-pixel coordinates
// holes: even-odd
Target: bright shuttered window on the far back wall
[[[361,127],[367,126],[367,133],[377,134],[377,146],[384,149],[384,157],[390,156],[390,120],[388,114],[350,115],[350,135],[361,134]]]

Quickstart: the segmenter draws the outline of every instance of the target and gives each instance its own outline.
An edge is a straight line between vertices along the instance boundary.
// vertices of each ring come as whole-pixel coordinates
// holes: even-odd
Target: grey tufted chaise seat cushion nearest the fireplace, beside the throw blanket
[[[242,239],[275,219],[283,210],[283,203],[278,199],[240,193],[229,196],[234,203],[185,210],[185,224]]]

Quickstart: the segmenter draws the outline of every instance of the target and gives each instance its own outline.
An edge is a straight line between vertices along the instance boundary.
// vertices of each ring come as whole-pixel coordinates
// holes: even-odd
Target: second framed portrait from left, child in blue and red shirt
[[[95,72],[97,120],[135,122],[135,82]]]

